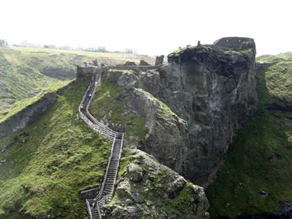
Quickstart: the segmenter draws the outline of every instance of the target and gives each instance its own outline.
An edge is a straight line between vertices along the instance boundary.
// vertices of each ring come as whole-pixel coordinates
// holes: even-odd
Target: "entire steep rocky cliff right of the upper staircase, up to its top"
[[[129,144],[206,185],[245,116],[257,107],[255,53],[250,38],[222,38],[175,51],[156,70],[113,68],[90,110],[113,128],[140,130]],[[115,88],[111,102],[103,98],[113,91],[108,87]],[[107,106],[103,113],[101,104]],[[145,129],[125,116],[138,117]]]

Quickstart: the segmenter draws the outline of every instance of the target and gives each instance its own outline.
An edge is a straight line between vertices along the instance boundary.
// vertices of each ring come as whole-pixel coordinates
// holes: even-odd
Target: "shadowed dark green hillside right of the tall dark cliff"
[[[245,122],[206,191],[211,216],[277,211],[292,202],[292,53],[263,56],[259,113]],[[266,191],[268,195],[263,195]]]

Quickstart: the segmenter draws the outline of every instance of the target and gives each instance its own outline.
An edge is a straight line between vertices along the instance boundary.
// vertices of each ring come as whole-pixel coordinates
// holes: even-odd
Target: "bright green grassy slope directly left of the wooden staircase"
[[[0,218],[83,218],[79,191],[99,186],[111,142],[79,118],[88,81],[58,92],[29,127],[0,141]]]

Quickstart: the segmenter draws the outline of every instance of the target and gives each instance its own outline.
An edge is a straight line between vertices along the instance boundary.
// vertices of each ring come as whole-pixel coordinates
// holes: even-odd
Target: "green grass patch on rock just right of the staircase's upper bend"
[[[120,71],[120,70],[119,70]],[[111,71],[108,72],[111,74]],[[127,113],[122,104],[124,99],[129,97],[129,90],[108,81],[108,76],[102,79],[102,84],[97,88],[95,97],[90,105],[90,113],[97,120],[104,120],[106,117],[113,127],[120,127],[125,131],[127,143],[135,143],[145,136],[145,121],[133,113]]]

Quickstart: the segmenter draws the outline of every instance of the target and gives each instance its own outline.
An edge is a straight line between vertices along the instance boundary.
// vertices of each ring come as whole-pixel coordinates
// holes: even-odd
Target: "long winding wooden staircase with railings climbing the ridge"
[[[88,215],[90,219],[99,219],[102,218],[102,215],[99,211],[99,206],[106,204],[106,202],[111,200],[113,195],[113,190],[115,188],[115,179],[117,177],[117,171],[120,163],[120,156],[122,154],[122,146],[124,140],[124,133],[113,131],[106,127],[106,125],[97,121],[88,111],[88,107],[92,102],[92,98],[95,95],[95,90],[100,83],[100,79],[97,80],[95,76],[94,79],[90,82],[88,89],[86,90],[85,95],[79,105],[79,115],[88,126],[113,140],[111,147],[111,156],[108,159],[108,165],[106,167],[106,174],[104,176],[104,181],[102,183],[102,188],[100,188],[98,195],[94,199],[86,200],[86,205],[88,209]]]

